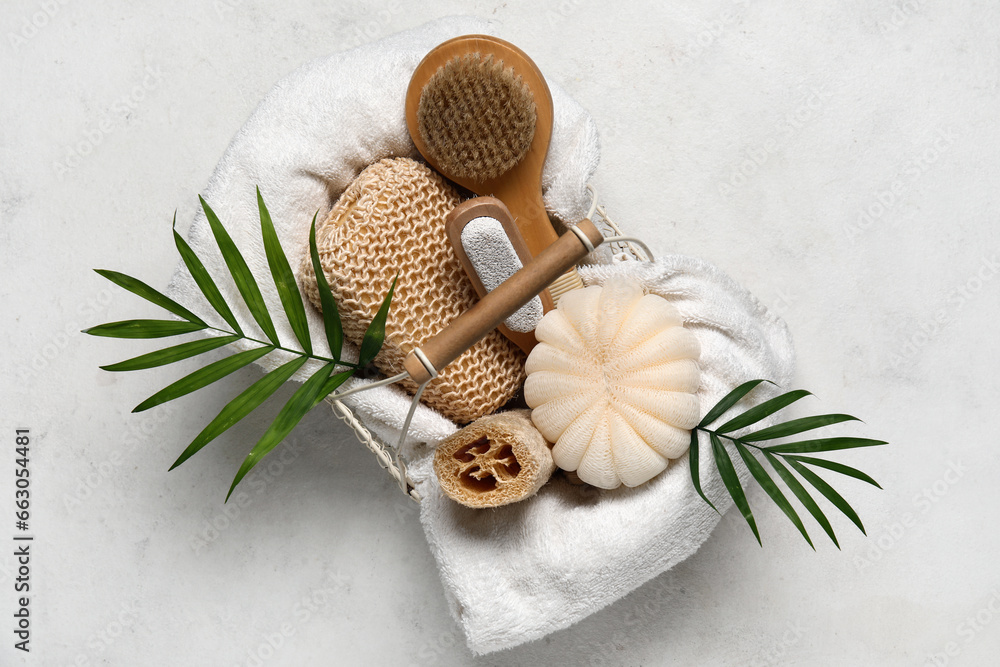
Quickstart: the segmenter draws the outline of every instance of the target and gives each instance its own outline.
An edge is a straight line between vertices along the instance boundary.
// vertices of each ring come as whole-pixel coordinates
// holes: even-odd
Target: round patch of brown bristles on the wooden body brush
[[[447,176],[484,182],[509,171],[535,136],[531,88],[492,55],[448,61],[420,95],[417,122],[427,157]]]

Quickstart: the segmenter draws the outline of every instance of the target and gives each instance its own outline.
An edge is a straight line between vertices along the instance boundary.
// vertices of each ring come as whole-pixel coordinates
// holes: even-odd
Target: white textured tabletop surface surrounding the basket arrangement
[[[836,515],[838,551],[810,519],[813,553],[755,489],[763,549],[730,514],[620,602],[476,659],[416,510],[329,412],[245,484],[246,507],[222,498],[266,415],[167,474],[259,372],[130,414],[184,369],[98,369],[152,348],[79,329],[157,311],[90,269],[164,287],[174,210],[186,228],[275,81],[463,12],[500,20],[593,113],[620,223],[786,318],[818,397],[799,414],[857,414],[891,441],[838,457],[885,487],[836,480],[867,538]],[[0,663],[994,664],[996,3],[6,0],[0,36],[0,540],[19,426],[36,535],[29,657],[2,548]]]

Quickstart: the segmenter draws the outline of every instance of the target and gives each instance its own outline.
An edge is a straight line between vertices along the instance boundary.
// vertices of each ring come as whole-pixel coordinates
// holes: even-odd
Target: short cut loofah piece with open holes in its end
[[[528,410],[488,415],[434,450],[441,489],[467,507],[499,507],[533,496],[555,464]]]

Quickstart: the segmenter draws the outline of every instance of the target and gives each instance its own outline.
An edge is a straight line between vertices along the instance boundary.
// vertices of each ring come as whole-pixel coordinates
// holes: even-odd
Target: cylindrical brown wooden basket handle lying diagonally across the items
[[[430,380],[604,241],[604,236],[590,220],[583,220],[576,228],[590,240],[591,248],[586,247],[576,233],[563,234],[500,287],[452,320],[441,333],[411,351],[403,360],[410,378],[418,384]],[[421,355],[433,371],[425,366]]]

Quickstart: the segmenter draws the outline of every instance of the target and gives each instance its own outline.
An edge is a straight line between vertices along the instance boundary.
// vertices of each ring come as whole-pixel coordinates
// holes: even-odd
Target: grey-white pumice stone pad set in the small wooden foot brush
[[[523,265],[507,232],[496,218],[476,218],[462,228],[462,248],[487,292],[514,275]],[[542,319],[542,300],[533,298],[504,320],[511,331],[534,331]]]

